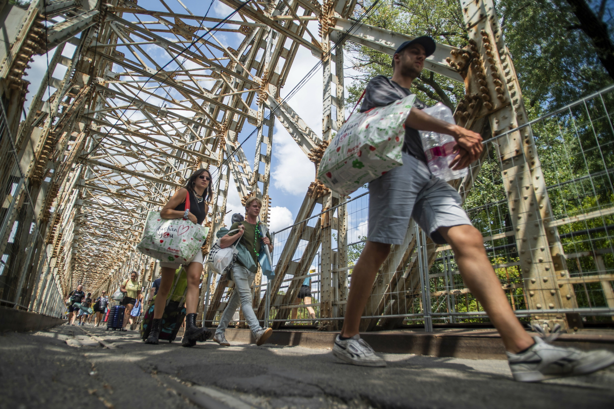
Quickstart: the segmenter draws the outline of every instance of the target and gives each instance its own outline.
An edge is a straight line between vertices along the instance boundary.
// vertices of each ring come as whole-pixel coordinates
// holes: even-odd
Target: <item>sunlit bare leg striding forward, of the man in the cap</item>
[[[452,247],[465,285],[483,305],[488,318],[499,331],[505,349],[518,353],[533,345],[534,341],[524,331],[501,288],[501,283],[486,256],[484,241],[478,229],[464,224],[440,227],[437,231]]]

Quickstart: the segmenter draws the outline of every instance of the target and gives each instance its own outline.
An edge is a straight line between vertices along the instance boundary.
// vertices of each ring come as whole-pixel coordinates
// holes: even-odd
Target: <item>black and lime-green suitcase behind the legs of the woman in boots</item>
[[[187,286],[187,272],[184,267],[179,267],[179,269],[175,271],[173,287],[166,299],[166,307],[164,308],[164,314],[162,315],[162,322],[160,325],[159,340],[167,340],[170,343],[177,337],[177,332],[179,332],[179,328],[181,328],[181,324],[185,319],[184,301]],[[156,296],[153,296],[152,300],[147,304],[147,308],[144,308],[145,313],[141,321],[141,338],[143,340],[149,337],[149,332],[151,331],[155,298]]]

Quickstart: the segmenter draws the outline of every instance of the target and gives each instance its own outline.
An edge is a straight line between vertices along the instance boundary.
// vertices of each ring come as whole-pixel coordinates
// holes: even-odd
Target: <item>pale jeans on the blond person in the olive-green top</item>
[[[254,308],[252,308],[252,291],[250,287],[254,285],[255,278],[255,273],[249,272],[245,267],[239,266],[238,263],[235,263],[232,267],[232,279],[235,281],[235,290],[230,296],[230,300],[228,300],[226,309],[222,313],[220,323],[217,325],[216,334],[222,335],[226,331],[228,323],[230,323],[232,316],[235,315],[239,305],[243,310],[243,315],[249,329],[252,330],[252,334],[256,335],[262,329],[254,313]]]

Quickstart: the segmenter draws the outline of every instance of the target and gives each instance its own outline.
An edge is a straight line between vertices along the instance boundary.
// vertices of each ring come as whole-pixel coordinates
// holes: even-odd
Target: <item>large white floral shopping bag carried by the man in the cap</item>
[[[405,120],[416,95],[352,115],[324,151],[317,178],[348,195],[403,164]]]

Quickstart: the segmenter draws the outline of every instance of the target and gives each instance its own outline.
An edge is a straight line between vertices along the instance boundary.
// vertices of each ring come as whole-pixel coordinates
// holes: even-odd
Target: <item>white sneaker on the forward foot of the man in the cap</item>
[[[614,364],[610,351],[580,351],[563,348],[533,337],[535,345],[522,354],[507,353],[514,380],[537,382],[546,379],[586,375]]]

